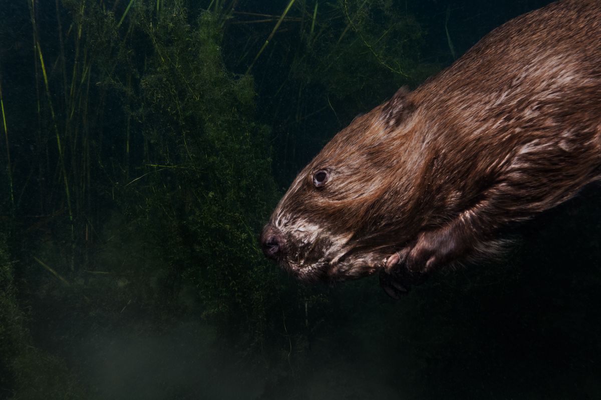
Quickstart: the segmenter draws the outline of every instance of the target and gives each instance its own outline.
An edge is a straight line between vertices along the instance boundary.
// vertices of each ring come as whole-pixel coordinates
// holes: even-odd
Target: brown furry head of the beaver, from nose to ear
[[[264,227],[267,257],[303,281],[360,278],[383,266],[404,236],[395,228],[407,226],[391,216],[403,215],[397,209],[406,204],[401,176],[410,156],[401,163],[398,155],[413,108],[402,88],[322,149]]]

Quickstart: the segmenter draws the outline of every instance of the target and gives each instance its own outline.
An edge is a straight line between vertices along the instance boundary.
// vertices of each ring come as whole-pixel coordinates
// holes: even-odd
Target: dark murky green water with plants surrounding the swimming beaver
[[[600,398],[598,185],[399,301],[257,243],[358,113],[545,4],[0,1],[0,398]]]

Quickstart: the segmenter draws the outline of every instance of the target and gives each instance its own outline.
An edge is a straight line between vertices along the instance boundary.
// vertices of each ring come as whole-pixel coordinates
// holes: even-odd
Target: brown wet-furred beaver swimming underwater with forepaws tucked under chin
[[[502,227],[599,178],[601,1],[559,1],[355,118],[294,179],[261,244],[302,281],[379,272],[398,297],[498,254]]]

